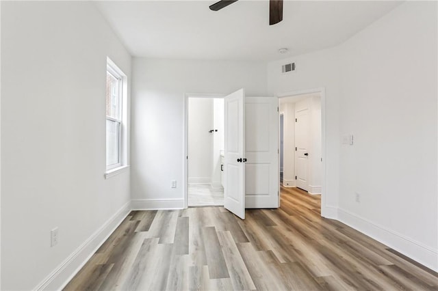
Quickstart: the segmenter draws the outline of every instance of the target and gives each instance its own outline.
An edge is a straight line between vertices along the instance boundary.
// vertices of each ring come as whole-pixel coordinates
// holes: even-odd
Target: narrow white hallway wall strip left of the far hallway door
[[[296,186],[295,180],[295,104],[281,103],[283,113],[283,186]]]

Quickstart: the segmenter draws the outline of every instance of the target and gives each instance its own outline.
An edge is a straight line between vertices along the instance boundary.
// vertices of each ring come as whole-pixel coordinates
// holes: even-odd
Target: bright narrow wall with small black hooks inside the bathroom
[[[222,188],[220,171],[220,151],[224,150],[224,99],[214,98],[213,100],[213,127],[218,130],[213,136],[213,175],[211,176],[211,186]]]

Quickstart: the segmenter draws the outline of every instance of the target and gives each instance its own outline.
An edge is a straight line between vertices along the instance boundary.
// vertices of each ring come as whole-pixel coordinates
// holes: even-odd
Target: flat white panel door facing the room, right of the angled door
[[[245,99],[246,208],[279,207],[279,99]]]

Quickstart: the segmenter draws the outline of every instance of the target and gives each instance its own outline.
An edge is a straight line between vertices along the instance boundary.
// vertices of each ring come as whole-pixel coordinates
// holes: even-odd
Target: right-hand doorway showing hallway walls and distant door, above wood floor
[[[283,94],[280,111],[281,187],[324,193],[324,89]],[[324,195],[321,197],[322,205]]]

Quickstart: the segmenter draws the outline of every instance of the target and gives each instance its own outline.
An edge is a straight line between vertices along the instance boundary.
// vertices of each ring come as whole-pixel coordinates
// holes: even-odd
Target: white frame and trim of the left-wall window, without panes
[[[127,96],[127,76],[126,74],[114,64],[109,57],[107,57],[107,73],[110,73],[114,78],[116,78],[120,83],[118,86],[118,119],[114,117],[106,116],[105,119],[105,128],[106,128],[106,120],[110,120],[112,122],[118,122],[119,124],[119,134],[118,134],[118,163],[112,165],[106,165],[106,144],[105,144],[105,178],[110,178],[116,174],[118,174],[121,170],[129,167],[127,164],[128,161],[128,113],[127,107],[129,106],[128,96]],[[107,106],[105,100],[105,107]],[[105,110],[106,112],[106,110]],[[107,130],[105,129],[105,136],[107,135]],[[106,140],[106,139],[105,139]]]

